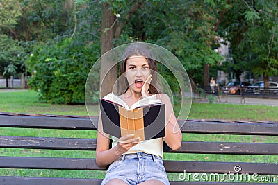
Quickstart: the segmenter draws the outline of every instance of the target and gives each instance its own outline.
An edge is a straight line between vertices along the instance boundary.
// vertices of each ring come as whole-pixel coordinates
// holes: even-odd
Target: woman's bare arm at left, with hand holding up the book
[[[97,149],[96,162],[100,167],[105,167],[111,164],[115,159],[120,157],[129,148],[139,143],[139,138],[134,138],[134,135],[129,134],[122,136],[117,143],[117,146],[109,149],[109,135],[102,132],[101,115],[99,115],[99,130],[97,132]]]

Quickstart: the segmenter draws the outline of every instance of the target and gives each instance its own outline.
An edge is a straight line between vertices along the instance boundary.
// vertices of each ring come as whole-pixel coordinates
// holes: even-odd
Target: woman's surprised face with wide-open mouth
[[[144,56],[131,55],[126,60],[126,78],[129,82],[129,88],[140,93],[145,80],[151,74],[149,63]]]

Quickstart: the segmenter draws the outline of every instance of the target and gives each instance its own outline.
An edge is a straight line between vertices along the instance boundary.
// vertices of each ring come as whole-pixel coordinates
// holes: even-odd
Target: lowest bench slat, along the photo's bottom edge
[[[72,178],[54,178],[54,177],[11,177],[11,176],[0,176],[1,185],[100,185],[102,179],[72,179]],[[183,182],[183,181],[170,181],[171,185],[234,185],[232,182]],[[240,185],[250,185],[249,183],[237,183]],[[269,183],[269,185],[274,183]],[[252,183],[252,185],[262,185],[262,183]]]

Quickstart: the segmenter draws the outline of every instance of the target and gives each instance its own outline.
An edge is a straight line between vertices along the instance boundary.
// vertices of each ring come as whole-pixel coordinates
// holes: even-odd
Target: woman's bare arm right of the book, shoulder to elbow
[[[158,98],[162,103],[165,103],[166,109],[166,136],[164,137],[167,146],[172,148],[172,150],[177,150],[181,148],[182,134],[177,123],[177,118],[174,116],[174,111],[170,98],[167,94],[159,94]]]

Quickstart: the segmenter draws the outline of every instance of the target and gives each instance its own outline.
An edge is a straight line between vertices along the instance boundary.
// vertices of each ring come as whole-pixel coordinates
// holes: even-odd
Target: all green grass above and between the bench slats
[[[93,107],[97,116],[98,107]],[[218,119],[218,120],[245,120],[245,121],[278,121],[278,107],[266,105],[229,105],[193,103],[190,119]],[[0,112],[16,112],[31,114],[60,114],[87,116],[85,105],[50,105],[40,103],[38,94],[34,91],[0,91]],[[182,116],[181,116],[182,118]],[[42,137],[70,137],[96,138],[95,131],[82,130],[38,130],[21,128],[0,128],[0,135],[6,136],[42,136]],[[237,136],[221,134],[183,134],[183,141],[218,141],[218,142],[265,142],[278,143],[277,136]],[[70,150],[28,150],[1,148],[1,156],[31,156],[31,157],[76,157],[94,158],[94,151]],[[277,156],[261,155],[207,155],[207,154],[167,154],[168,160],[188,161],[246,161],[277,163]],[[28,177],[79,177],[103,178],[105,172],[79,170],[17,170],[1,169],[1,175],[22,175]],[[169,173],[170,179],[179,180],[177,173]],[[278,179],[277,179],[278,180]]]

